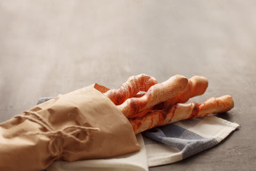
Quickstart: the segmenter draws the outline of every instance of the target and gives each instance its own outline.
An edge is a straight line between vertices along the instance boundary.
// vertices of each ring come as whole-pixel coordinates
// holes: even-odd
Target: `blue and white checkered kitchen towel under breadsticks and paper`
[[[40,98],[37,104],[51,98],[53,97]],[[137,135],[141,145],[140,152],[71,163],[57,161],[47,170],[100,170],[102,167],[104,170],[148,170],[148,167],[173,163],[211,148],[239,126],[213,115],[180,120],[149,129],[143,132],[142,136]]]

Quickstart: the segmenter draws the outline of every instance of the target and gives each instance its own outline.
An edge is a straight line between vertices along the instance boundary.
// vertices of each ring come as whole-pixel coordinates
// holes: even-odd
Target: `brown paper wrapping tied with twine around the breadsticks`
[[[99,159],[140,150],[127,118],[101,94],[107,89],[95,86],[1,123],[0,170],[42,170],[54,160]]]

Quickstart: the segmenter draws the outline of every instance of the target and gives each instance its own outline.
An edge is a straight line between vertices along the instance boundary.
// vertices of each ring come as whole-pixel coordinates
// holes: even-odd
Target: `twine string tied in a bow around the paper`
[[[51,124],[45,120],[41,115],[39,115],[37,112],[34,111],[25,111],[24,115],[17,115],[14,116],[14,118],[24,118],[28,119],[32,122],[36,122],[39,125],[41,125],[43,128],[47,130],[47,132],[28,132],[26,133],[27,135],[45,135],[50,137],[50,142],[48,144],[49,151],[53,156],[57,156],[57,159],[61,156],[62,154],[62,143],[60,144],[60,148],[58,148],[57,145],[57,139],[58,138],[63,138],[63,137],[68,137],[72,138],[78,143],[86,143],[89,140],[90,134],[88,130],[95,130],[99,131],[100,128],[92,128],[92,127],[84,127],[84,126],[79,126],[79,125],[71,125],[71,126],[66,126],[62,129],[54,130],[54,128],[51,126]],[[26,115],[30,114],[32,116]],[[76,130],[71,131],[71,132],[66,132],[69,128],[76,128]],[[78,139],[76,136],[73,136],[73,134],[79,133],[79,132],[84,132],[86,134],[85,138],[83,140]]]

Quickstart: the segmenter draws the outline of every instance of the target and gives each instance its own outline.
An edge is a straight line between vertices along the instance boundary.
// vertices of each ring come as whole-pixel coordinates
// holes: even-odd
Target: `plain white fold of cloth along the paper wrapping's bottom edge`
[[[136,135],[141,146],[139,152],[132,152],[105,159],[93,159],[82,161],[55,161],[47,171],[148,171],[147,154],[141,134]]]

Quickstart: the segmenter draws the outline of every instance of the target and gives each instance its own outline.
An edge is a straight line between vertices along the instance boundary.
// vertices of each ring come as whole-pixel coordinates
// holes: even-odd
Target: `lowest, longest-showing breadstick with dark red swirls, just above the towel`
[[[227,112],[234,107],[231,96],[210,98],[203,104],[198,103],[178,103],[171,108],[164,110],[149,111],[141,117],[128,118],[135,134],[147,129],[163,126],[179,120],[196,118],[212,113]]]

